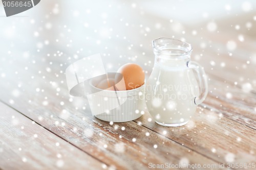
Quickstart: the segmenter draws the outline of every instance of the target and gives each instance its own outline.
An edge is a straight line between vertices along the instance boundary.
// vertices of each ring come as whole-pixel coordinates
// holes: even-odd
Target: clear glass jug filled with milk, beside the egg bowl
[[[161,37],[153,40],[153,49],[155,64],[146,83],[147,109],[159,125],[185,125],[208,93],[204,69],[190,61],[192,47],[186,42]]]

